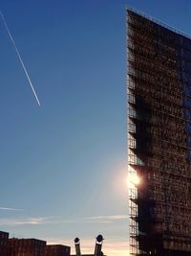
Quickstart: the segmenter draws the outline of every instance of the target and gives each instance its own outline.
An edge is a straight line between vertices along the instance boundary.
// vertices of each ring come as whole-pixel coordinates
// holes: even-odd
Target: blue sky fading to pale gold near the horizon
[[[191,2],[0,0],[0,230],[128,256],[125,8],[191,35]]]

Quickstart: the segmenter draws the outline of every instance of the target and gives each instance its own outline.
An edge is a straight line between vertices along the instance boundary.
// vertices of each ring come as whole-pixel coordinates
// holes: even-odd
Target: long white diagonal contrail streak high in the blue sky
[[[30,76],[29,76],[29,74],[28,74],[28,72],[27,72],[27,69],[26,69],[26,67],[25,67],[25,64],[24,64],[24,62],[23,62],[23,60],[22,60],[22,58],[21,58],[21,56],[20,56],[20,53],[19,53],[19,51],[18,51],[18,48],[17,48],[17,46],[16,46],[16,44],[15,44],[15,41],[14,41],[12,35],[11,35],[10,29],[9,29],[9,27],[8,27],[8,24],[7,24],[7,22],[6,22],[6,19],[5,19],[5,17],[4,17],[4,14],[3,14],[1,11],[0,11],[0,15],[1,15],[1,17],[2,17],[2,20],[3,20],[3,23],[4,23],[4,25],[5,25],[6,30],[7,30],[7,32],[8,32],[8,35],[9,35],[10,38],[11,38],[11,42],[12,42],[12,44],[13,44],[13,46],[14,46],[14,49],[15,49],[15,51],[16,51],[16,54],[17,54],[17,56],[18,56],[18,58],[19,58],[19,61],[20,61],[21,65],[22,65],[22,68],[23,68],[23,70],[24,70],[24,72],[25,72],[25,75],[26,75],[26,77],[27,77],[27,79],[28,79],[28,81],[29,81],[29,83],[30,83],[30,85],[31,85],[32,92],[33,92],[33,95],[34,95],[34,97],[35,97],[35,99],[36,99],[36,102],[37,102],[37,104],[40,106],[40,102],[39,102],[38,96],[37,96],[37,94],[36,94],[36,92],[35,92],[35,90],[34,90],[34,88],[33,88],[32,81],[31,81],[31,79],[30,79]]]

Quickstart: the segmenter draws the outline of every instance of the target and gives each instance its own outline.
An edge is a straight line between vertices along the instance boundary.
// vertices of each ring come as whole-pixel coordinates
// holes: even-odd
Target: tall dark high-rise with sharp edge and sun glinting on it
[[[191,37],[127,10],[130,255],[191,255]]]

